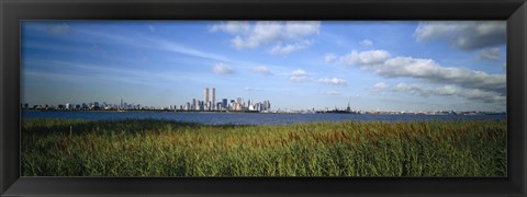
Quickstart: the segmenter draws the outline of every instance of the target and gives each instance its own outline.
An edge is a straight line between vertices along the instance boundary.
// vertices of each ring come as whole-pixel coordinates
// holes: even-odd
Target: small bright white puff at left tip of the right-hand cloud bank
[[[377,65],[384,62],[390,58],[386,50],[367,50],[358,53],[352,50],[350,54],[340,57],[338,61],[344,65]]]

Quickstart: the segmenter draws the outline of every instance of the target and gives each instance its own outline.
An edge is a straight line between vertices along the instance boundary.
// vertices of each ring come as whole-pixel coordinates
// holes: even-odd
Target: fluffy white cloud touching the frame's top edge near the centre
[[[231,44],[237,49],[274,44],[276,46],[270,53],[288,54],[309,47],[303,44],[304,37],[318,34],[319,27],[319,21],[258,21],[255,23],[229,21],[213,25],[210,31],[233,35]],[[285,42],[293,44],[282,46],[281,43]]]

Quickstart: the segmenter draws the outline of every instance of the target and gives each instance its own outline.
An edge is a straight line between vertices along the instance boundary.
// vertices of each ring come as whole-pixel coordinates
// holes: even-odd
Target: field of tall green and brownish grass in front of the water
[[[23,176],[505,176],[506,121],[23,119]]]

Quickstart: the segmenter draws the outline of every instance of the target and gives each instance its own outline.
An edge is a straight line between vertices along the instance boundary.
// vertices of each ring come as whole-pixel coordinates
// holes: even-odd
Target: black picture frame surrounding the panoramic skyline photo
[[[20,177],[21,20],[506,20],[507,177]],[[0,0],[0,196],[527,196],[525,0]]]

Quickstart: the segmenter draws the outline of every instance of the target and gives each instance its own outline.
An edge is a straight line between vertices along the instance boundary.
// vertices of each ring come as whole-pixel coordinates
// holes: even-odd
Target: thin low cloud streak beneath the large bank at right
[[[484,103],[505,103],[506,96],[496,92],[484,91],[480,89],[462,89],[455,85],[445,85],[439,88],[424,88],[421,84],[399,83],[391,89],[393,92],[407,92],[421,96],[459,96],[471,101]]]

